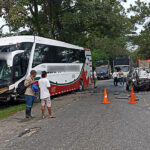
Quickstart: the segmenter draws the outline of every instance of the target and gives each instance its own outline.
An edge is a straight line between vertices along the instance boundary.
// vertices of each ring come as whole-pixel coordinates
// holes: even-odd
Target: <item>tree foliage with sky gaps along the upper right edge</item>
[[[148,19],[150,17],[150,3],[147,4],[137,0],[136,5],[131,6],[128,11],[134,12],[135,14],[131,16],[131,22],[134,26],[137,24],[143,25],[146,21],[146,24],[143,26],[144,30],[132,38],[133,44],[138,46],[138,49],[132,54],[132,57],[148,59],[150,58],[150,21]]]

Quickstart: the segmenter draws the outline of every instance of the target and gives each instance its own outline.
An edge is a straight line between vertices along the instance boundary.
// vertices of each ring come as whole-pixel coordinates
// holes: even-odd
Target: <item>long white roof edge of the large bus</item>
[[[17,43],[22,43],[22,42],[34,42],[34,38],[36,40],[36,43],[40,43],[40,44],[47,44],[47,45],[53,45],[53,46],[84,50],[83,47],[79,47],[79,46],[72,45],[69,43],[52,40],[48,38],[43,38],[39,36],[34,37],[32,35],[23,35],[23,36],[21,35],[21,36],[11,36],[11,37],[0,38],[0,46],[12,45],[12,44],[17,44]]]

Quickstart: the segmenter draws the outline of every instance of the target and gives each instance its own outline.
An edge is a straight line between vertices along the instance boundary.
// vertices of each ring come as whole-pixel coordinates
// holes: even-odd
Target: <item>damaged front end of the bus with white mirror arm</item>
[[[0,41],[0,100],[2,101],[17,97],[15,90],[27,74],[33,46],[33,42],[18,42],[13,37],[6,39],[2,40],[2,43]]]

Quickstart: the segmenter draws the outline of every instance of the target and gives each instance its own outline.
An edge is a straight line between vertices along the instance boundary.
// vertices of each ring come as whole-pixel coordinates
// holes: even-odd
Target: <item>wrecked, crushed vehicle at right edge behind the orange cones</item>
[[[149,90],[150,89],[150,69],[149,68],[134,68],[127,75],[126,89],[131,90]]]

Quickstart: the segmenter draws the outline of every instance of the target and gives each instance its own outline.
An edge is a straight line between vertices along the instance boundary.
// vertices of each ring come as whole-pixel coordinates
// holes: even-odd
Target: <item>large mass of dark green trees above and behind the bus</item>
[[[125,35],[133,26],[121,0],[6,0],[0,10],[11,32],[88,47],[99,55],[93,60],[128,55]]]

